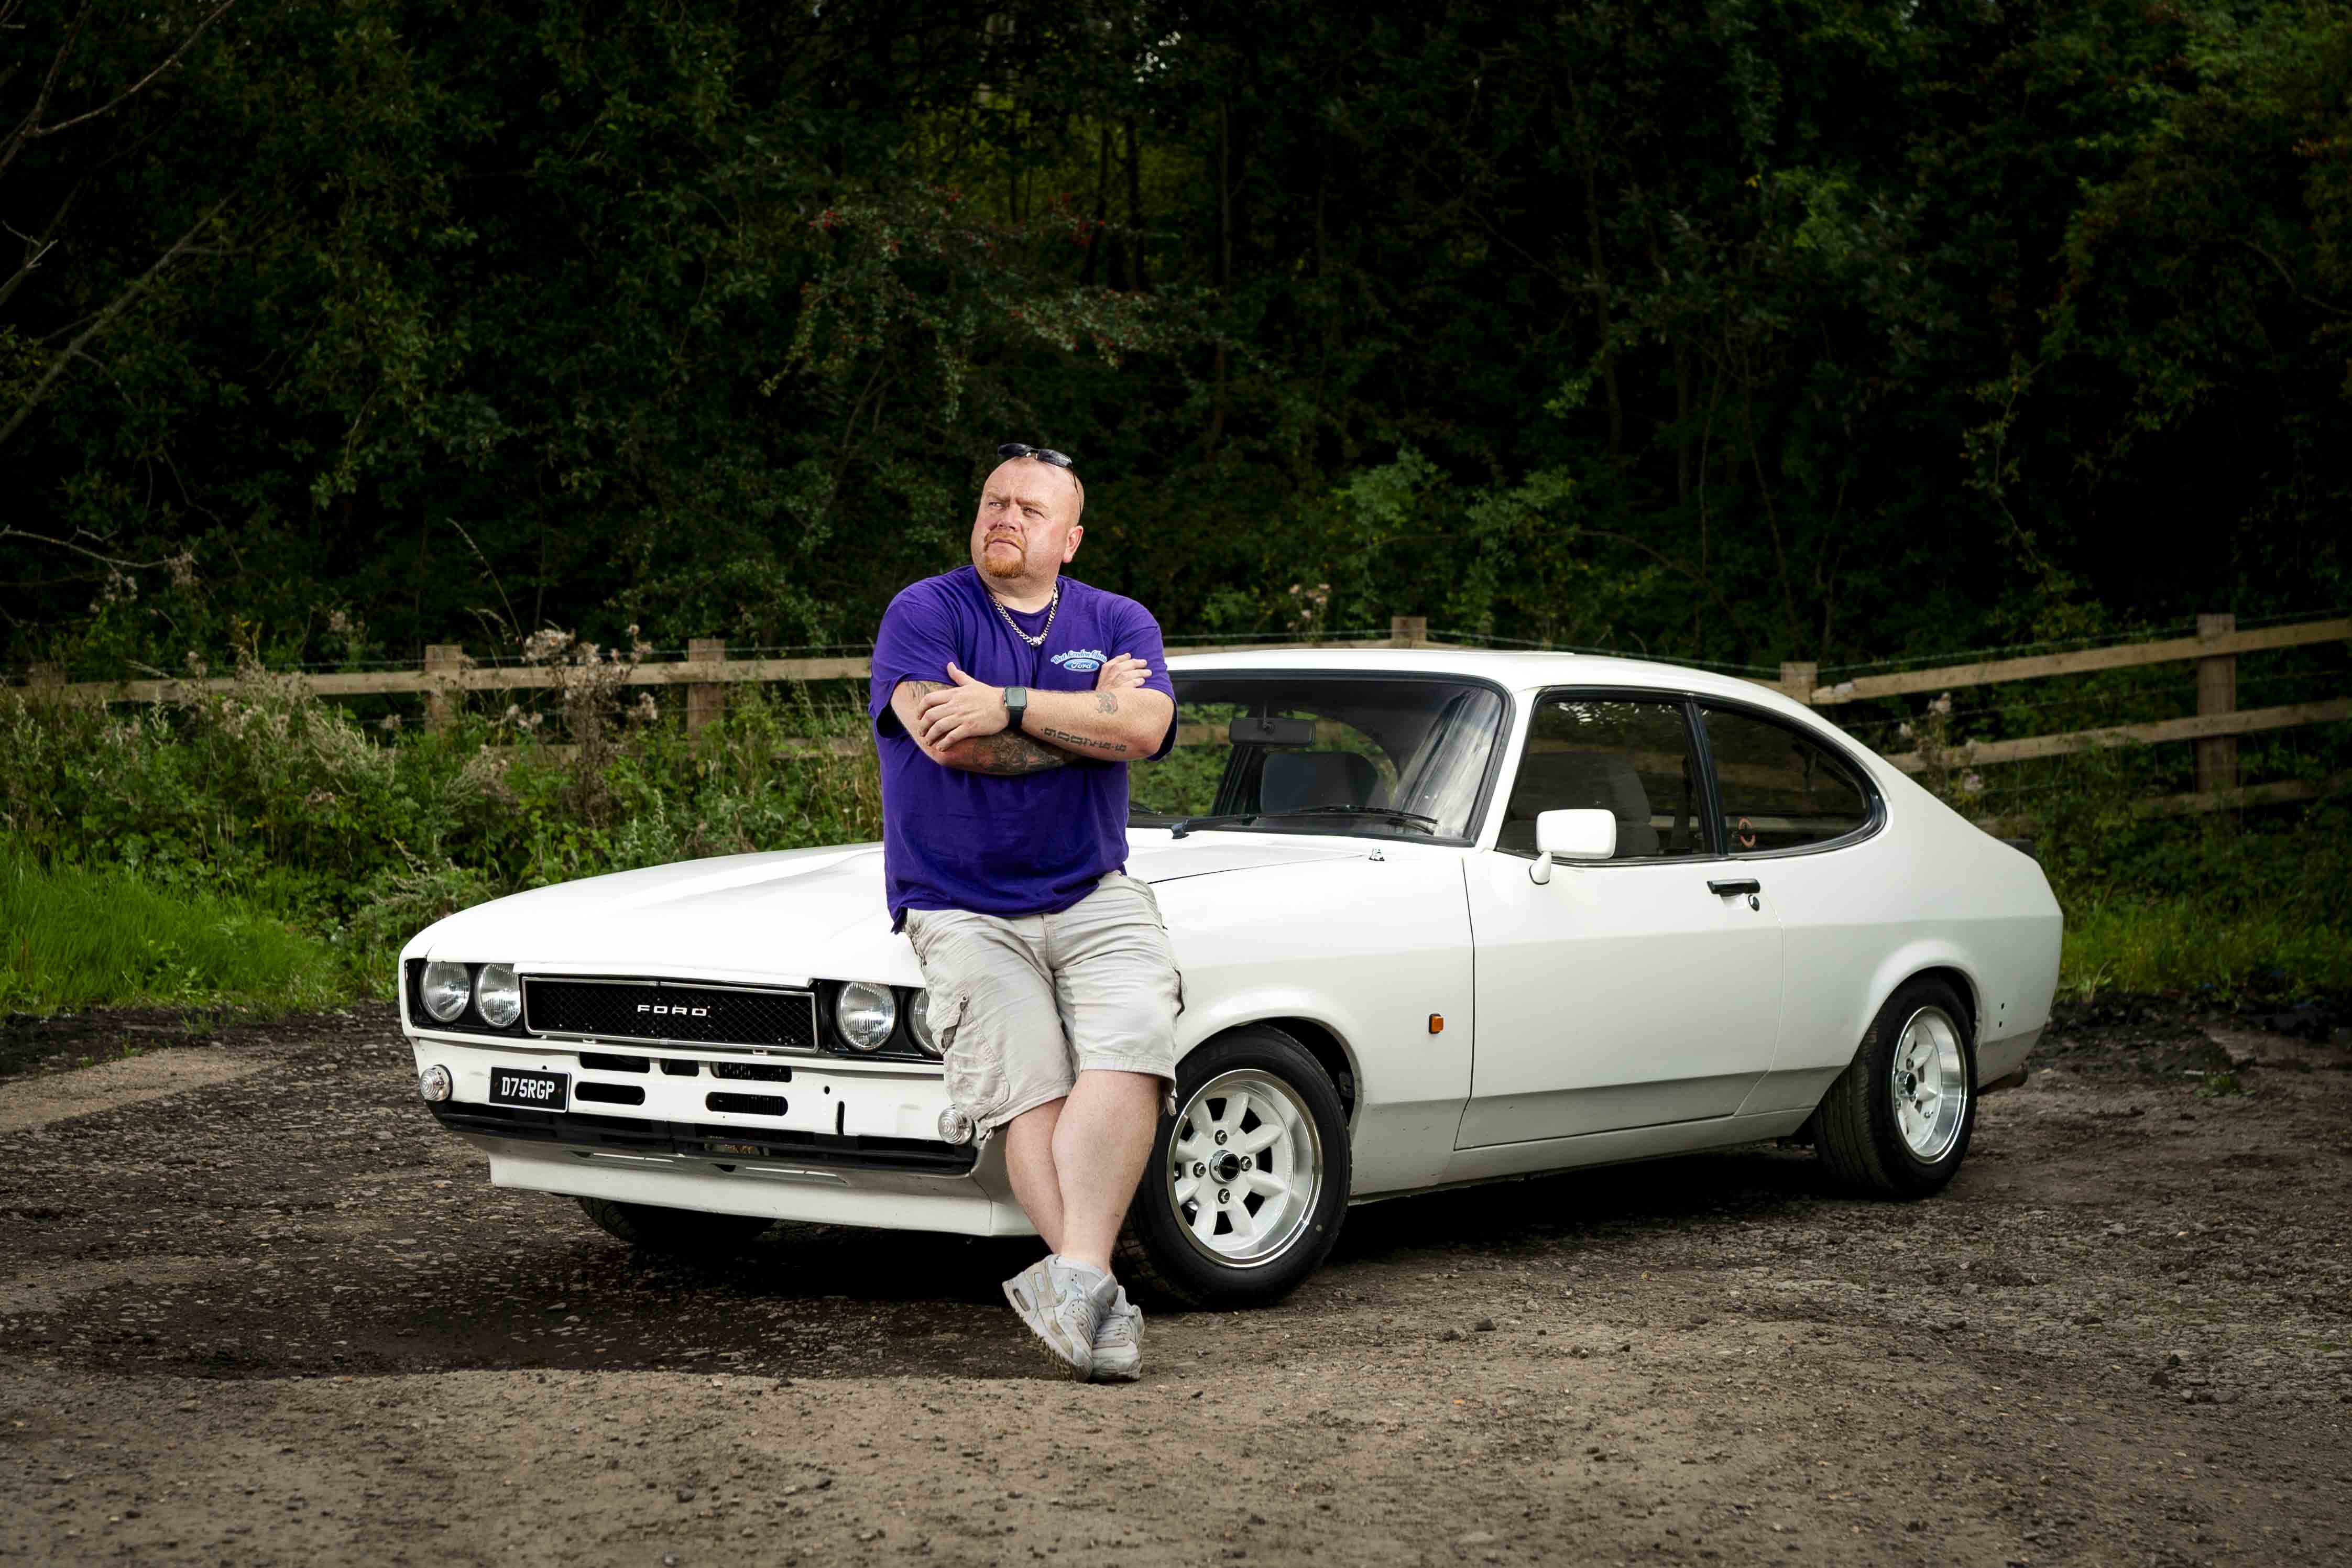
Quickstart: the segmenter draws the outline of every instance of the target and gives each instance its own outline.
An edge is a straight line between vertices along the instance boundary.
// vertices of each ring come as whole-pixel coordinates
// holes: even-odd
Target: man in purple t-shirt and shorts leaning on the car
[[[1174,1110],[1178,980],[1124,872],[1127,764],[1167,755],[1176,689],[1150,611],[1061,576],[1084,538],[1070,458],[997,456],[971,564],[903,590],[875,635],[884,877],[948,1095],[1004,1133],[1051,1248],[1004,1295],[1070,1375],[1134,1380],[1143,1314],[1110,1248]]]

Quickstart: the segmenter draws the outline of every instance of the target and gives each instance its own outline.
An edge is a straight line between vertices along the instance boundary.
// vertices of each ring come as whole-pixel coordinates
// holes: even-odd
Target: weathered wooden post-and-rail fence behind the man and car
[[[1992,658],[1957,665],[1933,665],[1924,670],[1898,670],[1889,675],[1860,675],[1853,679],[1820,684],[1813,663],[1780,665],[1773,686],[1811,708],[1842,708],[1893,696],[1917,696],[1924,691],[1957,691],[1969,686],[1994,686],[2004,682],[2051,679],[2065,675],[2093,675],[2100,670],[2131,670],[2161,663],[2197,665],[2197,712],[2178,719],[2147,724],[2110,724],[2100,729],[2077,729],[2051,736],[2023,736],[2013,741],[1969,741],[1950,748],[1940,757],[1924,752],[1891,755],[1898,769],[1922,773],[1936,766],[1999,766],[2037,757],[2065,757],[2070,752],[2103,745],[2159,745],[2192,741],[2197,745],[2197,790],[2143,802],[2150,816],[2176,816],[2192,811],[2223,811],[2277,802],[2317,799],[2352,783],[2352,776],[2336,776],[2319,783],[2284,780],[2263,785],[2239,785],[2237,738],[2298,724],[2338,724],[2352,719],[2352,698],[2326,698],[2317,703],[2288,703],[2277,708],[2237,705],[2237,661],[2249,654],[2270,654],[2331,642],[2352,642],[2352,618],[2303,621],[2296,625],[2265,625],[2237,630],[2237,618],[2227,614],[2197,616],[2194,637],[2166,637],[2159,642],[2129,642],[2100,649],[2077,649],[2072,654],[2034,654],[2027,658]],[[1350,642],[1261,642],[1223,646],[1171,646],[1178,654],[1235,654],[1272,649],[1414,649],[1458,646],[1430,639],[1423,616],[1395,616],[1390,635],[1383,639]],[[720,639],[694,639],[684,661],[623,663],[612,677],[628,686],[684,686],[687,729],[701,729],[724,708],[729,684],[739,682],[828,682],[866,679],[870,665],[863,656],[840,658],[727,658]],[[416,670],[369,670],[348,675],[303,675],[303,684],[318,696],[397,696],[421,693],[428,722],[440,724],[449,715],[449,696],[456,691],[546,691],[557,689],[576,672],[555,665],[473,665],[463,649],[435,644],[426,649]],[[61,686],[64,691],[92,701],[172,703],[188,701],[205,691],[226,691],[233,677],[209,679],[129,679],[129,682],[82,682],[66,686],[54,672],[33,675],[35,684]],[[851,741],[849,745],[861,745]]]

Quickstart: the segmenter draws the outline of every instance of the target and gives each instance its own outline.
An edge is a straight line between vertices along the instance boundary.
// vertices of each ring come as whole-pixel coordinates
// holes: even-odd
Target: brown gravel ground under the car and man
[[[388,1011],[9,1020],[0,1559],[2347,1561],[2345,1023],[2072,1009],[1926,1204],[1740,1150],[1357,1208],[1073,1387],[1035,1244],[633,1258]]]

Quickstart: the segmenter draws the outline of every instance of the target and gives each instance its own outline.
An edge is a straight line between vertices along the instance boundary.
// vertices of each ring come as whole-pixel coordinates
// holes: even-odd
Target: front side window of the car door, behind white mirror
[[[1536,816],[1599,806],[1618,820],[1618,860],[1705,851],[1698,759],[1682,703],[1548,691],[1510,780],[1496,849],[1534,856]]]

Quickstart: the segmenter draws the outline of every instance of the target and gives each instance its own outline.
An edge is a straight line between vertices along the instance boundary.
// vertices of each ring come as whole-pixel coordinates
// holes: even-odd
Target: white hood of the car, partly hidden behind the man
[[[1359,842],[1129,835],[1127,870],[1176,882],[1364,858]],[[499,898],[419,933],[407,959],[506,961],[527,971],[708,980],[917,980],[889,929],[882,846],[795,849],[684,860]]]

